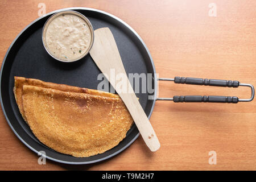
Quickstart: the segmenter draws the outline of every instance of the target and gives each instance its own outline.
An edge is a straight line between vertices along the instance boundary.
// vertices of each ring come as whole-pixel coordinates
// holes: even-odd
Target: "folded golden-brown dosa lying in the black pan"
[[[116,94],[23,77],[15,77],[14,94],[34,135],[63,154],[101,154],[117,146],[133,124]]]

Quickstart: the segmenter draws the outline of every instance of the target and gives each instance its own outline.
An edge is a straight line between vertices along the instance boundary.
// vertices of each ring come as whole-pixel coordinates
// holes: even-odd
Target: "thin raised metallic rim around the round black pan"
[[[148,50],[146,44],[143,42],[141,36],[138,35],[138,33],[131,27],[129,26],[129,24],[127,24],[126,22],[124,22],[122,19],[119,19],[117,16],[114,16],[110,13],[107,13],[105,11],[102,11],[102,10],[97,10],[97,9],[92,9],[92,8],[88,8],[88,7],[68,7],[68,8],[64,8],[64,9],[59,9],[59,10],[55,10],[55,11],[51,11],[43,16],[40,16],[39,18],[35,19],[34,21],[32,21],[30,24],[28,24],[25,28],[23,28],[22,31],[19,32],[19,34],[15,37],[15,39],[13,40],[13,42],[10,44],[9,48],[7,49],[6,51],[6,54],[5,54],[5,57],[3,58],[3,62],[2,62],[2,65],[1,65],[1,71],[0,71],[0,86],[2,85],[2,72],[3,72],[3,67],[5,65],[5,61],[6,61],[6,57],[7,55],[9,55],[9,51],[10,49],[13,47],[13,44],[16,42],[16,40],[19,38],[20,35],[23,34],[24,31],[27,30],[28,27],[30,27],[32,24],[34,24],[35,22],[38,22],[38,20],[44,18],[44,16],[48,16],[48,15],[51,15],[51,14],[55,14],[55,13],[58,13],[60,11],[65,11],[65,10],[87,10],[87,11],[94,11],[96,13],[101,13],[101,14],[105,14],[107,16],[110,16],[111,18],[117,20],[118,22],[121,22],[122,24],[124,24],[127,28],[129,28],[130,31],[132,31],[134,33],[134,35],[141,41],[144,49],[146,50],[147,52],[147,55],[148,57],[150,58],[150,61],[151,61],[151,65],[152,65],[152,69],[153,69],[153,72],[154,72],[154,100],[153,100],[153,103],[152,103],[152,106],[151,106],[151,110],[150,110],[150,114],[148,115],[148,119],[151,117],[151,114],[152,114],[152,111],[155,107],[155,101],[156,101],[156,95],[157,95],[157,92],[158,92],[158,88],[157,88],[157,78],[156,78],[156,71],[155,71],[155,65],[154,65],[154,61],[152,59],[152,56],[150,54],[150,51]],[[36,154],[40,154],[39,151],[35,150],[35,148],[31,147],[30,144],[28,144],[25,140],[23,140],[22,137],[20,137],[20,135],[16,132],[16,130],[14,129],[13,125],[11,124],[11,122],[9,121],[9,118],[7,117],[7,114],[6,114],[6,111],[5,111],[5,107],[3,106],[3,101],[2,101],[2,90],[0,91],[1,94],[0,94],[0,101],[1,101],[1,107],[2,107],[2,111],[3,111],[3,115],[5,116],[5,119],[7,121],[7,123],[9,124],[9,126],[11,127],[11,130],[13,130],[14,134],[16,135],[16,137],[19,138],[19,140],[24,143],[28,148],[30,148],[30,150],[34,151]],[[118,151],[114,152],[113,154],[110,154],[108,156],[105,156],[104,158],[101,158],[101,159],[96,159],[96,160],[91,160],[91,161],[88,161],[88,162],[68,162],[68,161],[65,161],[65,160],[59,160],[59,159],[55,159],[55,158],[51,158],[49,156],[46,155],[46,159],[49,159],[49,160],[52,160],[52,161],[55,161],[55,162],[59,162],[59,163],[64,163],[64,164],[92,164],[92,163],[97,163],[97,162],[101,162],[103,160],[106,160],[106,159],[109,159],[109,158],[112,158],[113,156],[119,154],[120,152],[122,152],[123,150],[125,150],[127,147],[129,147],[131,145],[131,143],[133,143],[138,137],[139,137],[140,133],[138,133],[133,139],[130,140],[129,143],[127,143],[125,146],[123,146],[121,149],[119,149]]]

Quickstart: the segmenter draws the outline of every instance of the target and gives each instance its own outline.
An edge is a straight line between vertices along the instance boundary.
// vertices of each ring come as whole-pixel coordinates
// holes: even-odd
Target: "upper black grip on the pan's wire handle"
[[[228,86],[228,87],[239,86],[239,81],[214,80],[214,79],[203,79],[203,78],[175,77],[174,82],[176,84],[192,84],[192,85]]]

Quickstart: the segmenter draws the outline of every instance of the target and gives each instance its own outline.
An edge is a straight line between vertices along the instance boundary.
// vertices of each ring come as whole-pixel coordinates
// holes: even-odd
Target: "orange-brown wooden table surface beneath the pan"
[[[130,24],[142,37],[159,77],[238,80],[256,86],[256,1],[1,1],[0,57],[16,35],[46,13],[64,7],[92,7]],[[209,16],[210,3],[217,16]],[[159,83],[159,96],[224,95],[250,97],[249,88]],[[46,161],[15,136],[0,113],[0,169],[256,169],[256,104],[175,104],[157,101],[150,118],[161,147],[150,152],[139,137],[121,154],[104,162],[71,166]],[[208,163],[216,151],[217,164]]]

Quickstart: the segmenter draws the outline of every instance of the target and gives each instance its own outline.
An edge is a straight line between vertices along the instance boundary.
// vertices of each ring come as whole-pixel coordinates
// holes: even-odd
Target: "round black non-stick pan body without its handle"
[[[42,144],[24,122],[16,105],[13,86],[14,76],[37,78],[43,81],[80,86],[83,88],[97,89],[101,80],[97,80],[100,70],[94,64],[92,57],[85,56],[75,63],[61,63],[48,55],[42,43],[42,28],[44,23],[54,13],[63,10],[74,10],[84,14],[92,23],[94,30],[109,27],[117,43],[123,65],[128,73],[152,73],[154,93],[139,93],[139,102],[145,113],[150,117],[155,100],[148,100],[148,96],[156,96],[155,67],[146,45],[139,35],[125,22],[104,11],[73,7],[53,11],[46,16],[36,19],[29,24],[15,38],[8,49],[1,69],[1,105],[6,120],[16,136],[28,148],[38,153],[46,152],[47,159],[68,164],[89,164],[108,159],[127,148],[139,136],[135,125],[128,131],[126,138],[118,146],[103,154],[88,158],[75,158],[70,155],[60,154]]]

